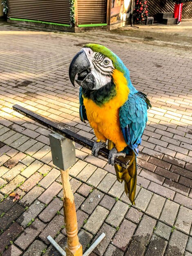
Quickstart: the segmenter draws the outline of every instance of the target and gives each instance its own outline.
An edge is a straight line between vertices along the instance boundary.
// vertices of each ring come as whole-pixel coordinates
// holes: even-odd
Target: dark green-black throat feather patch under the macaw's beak
[[[101,107],[116,96],[116,87],[113,81],[111,81],[98,90],[82,88],[82,94],[84,98],[91,99]]]

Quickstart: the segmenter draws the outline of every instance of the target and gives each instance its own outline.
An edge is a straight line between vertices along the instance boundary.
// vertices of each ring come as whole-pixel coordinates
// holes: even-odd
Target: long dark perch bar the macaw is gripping
[[[71,139],[72,141],[75,141],[78,144],[92,150],[92,147],[93,147],[92,140],[76,134],[75,132],[65,128],[61,124],[56,124],[53,121],[50,121],[49,119],[42,117],[30,110],[27,110],[26,108],[19,106],[19,105],[14,105],[13,110],[19,112],[20,114],[24,115],[25,117],[28,117],[28,118],[36,121],[39,124],[42,124],[43,126],[49,128],[55,132],[58,132],[61,135],[64,135],[66,138]],[[109,150],[107,148],[101,148],[98,151],[98,155],[101,155],[102,157],[108,159]],[[115,164],[118,164],[119,166],[121,166],[123,168],[128,168],[129,162],[130,162],[129,156],[115,158]]]

